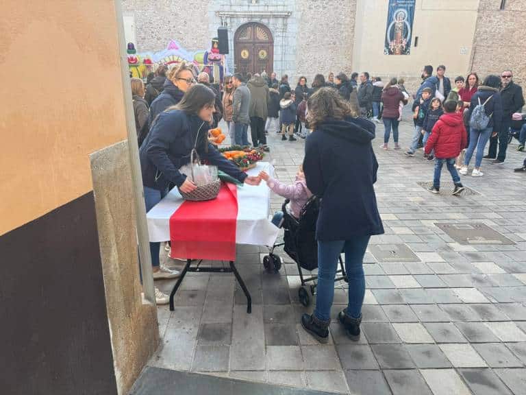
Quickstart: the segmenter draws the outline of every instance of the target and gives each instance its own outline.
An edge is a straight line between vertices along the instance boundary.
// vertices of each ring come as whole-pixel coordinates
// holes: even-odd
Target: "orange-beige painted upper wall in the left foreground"
[[[90,191],[126,122],[113,1],[4,1],[0,53],[2,235]]]

